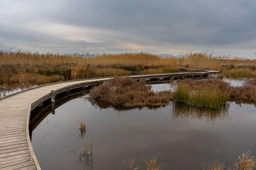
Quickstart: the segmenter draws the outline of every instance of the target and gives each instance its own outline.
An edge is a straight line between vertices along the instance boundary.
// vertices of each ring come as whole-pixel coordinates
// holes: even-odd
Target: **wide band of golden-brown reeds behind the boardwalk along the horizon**
[[[217,69],[225,75],[240,76],[242,70],[256,75],[256,60],[229,59],[212,53],[188,53],[180,59],[159,57],[150,53],[94,54],[84,53],[32,53],[0,51],[1,85],[40,85],[63,80],[76,80],[99,76],[124,74],[167,73],[179,71],[177,67]]]

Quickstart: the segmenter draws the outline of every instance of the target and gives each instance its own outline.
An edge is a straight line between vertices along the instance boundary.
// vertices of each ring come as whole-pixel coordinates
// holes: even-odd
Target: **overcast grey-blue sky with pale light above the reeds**
[[[255,0],[0,0],[0,50],[256,58]]]

